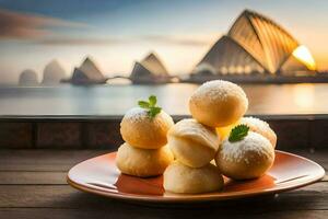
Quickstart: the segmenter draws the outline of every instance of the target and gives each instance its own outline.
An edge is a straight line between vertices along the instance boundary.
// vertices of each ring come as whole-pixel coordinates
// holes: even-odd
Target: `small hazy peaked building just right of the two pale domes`
[[[70,82],[73,84],[97,84],[105,83],[106,80],[107,79],[95,62],[87,57],[79,68],[74,68],[72,78],[63,82]]]

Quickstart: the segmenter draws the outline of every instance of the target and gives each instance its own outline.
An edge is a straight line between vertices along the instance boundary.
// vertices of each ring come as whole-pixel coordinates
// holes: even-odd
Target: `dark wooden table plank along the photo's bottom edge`
[[[249,206],[249,208],[251,208]],[[254,208],[254,207],[253,207]],[[209,214],[210,212],[210,214]],[[235,209],[222,209],[222,208],[188,208],[188,209],[171,209],[171,208],[136,208],[133,210],[122,210],[116,209],[112,211],[110,209],[103,210],[78,210],[78,209],[0,209],[0,219],[15,218],[15,219],[104,219],[104,218],[245,218],[245,219],[300,219],[300,218],[311,218],[311,219],[326,219],[328,210],[284,210],[276,211],[268,210],[260,214],[250,214],[251,210],[246,210],[244,212],[235,211]]]

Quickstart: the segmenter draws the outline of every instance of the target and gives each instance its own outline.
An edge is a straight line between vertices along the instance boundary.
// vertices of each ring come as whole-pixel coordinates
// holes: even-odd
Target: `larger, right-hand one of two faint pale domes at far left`
[[[66,77],[63,68],[57,60],[50,61],[44,69],[43,85],[56,85]]]

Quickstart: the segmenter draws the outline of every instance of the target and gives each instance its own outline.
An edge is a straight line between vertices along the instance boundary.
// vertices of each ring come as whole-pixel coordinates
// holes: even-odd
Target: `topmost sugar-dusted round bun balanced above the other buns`
[[[241,87],[222,80],[200,85],[189,100],[194,118],[211,127],[227,126],[247,111],[248,100]]]

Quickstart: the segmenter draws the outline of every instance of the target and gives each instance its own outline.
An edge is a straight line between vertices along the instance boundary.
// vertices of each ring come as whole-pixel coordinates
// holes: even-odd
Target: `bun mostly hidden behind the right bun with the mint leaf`
[[[243,117],[239,124],[245,124],[249,127],[249,130],[262,135],[271,142],[272,147],[276,148],[277,135],[270,128],[269,124],[255,117]]]

